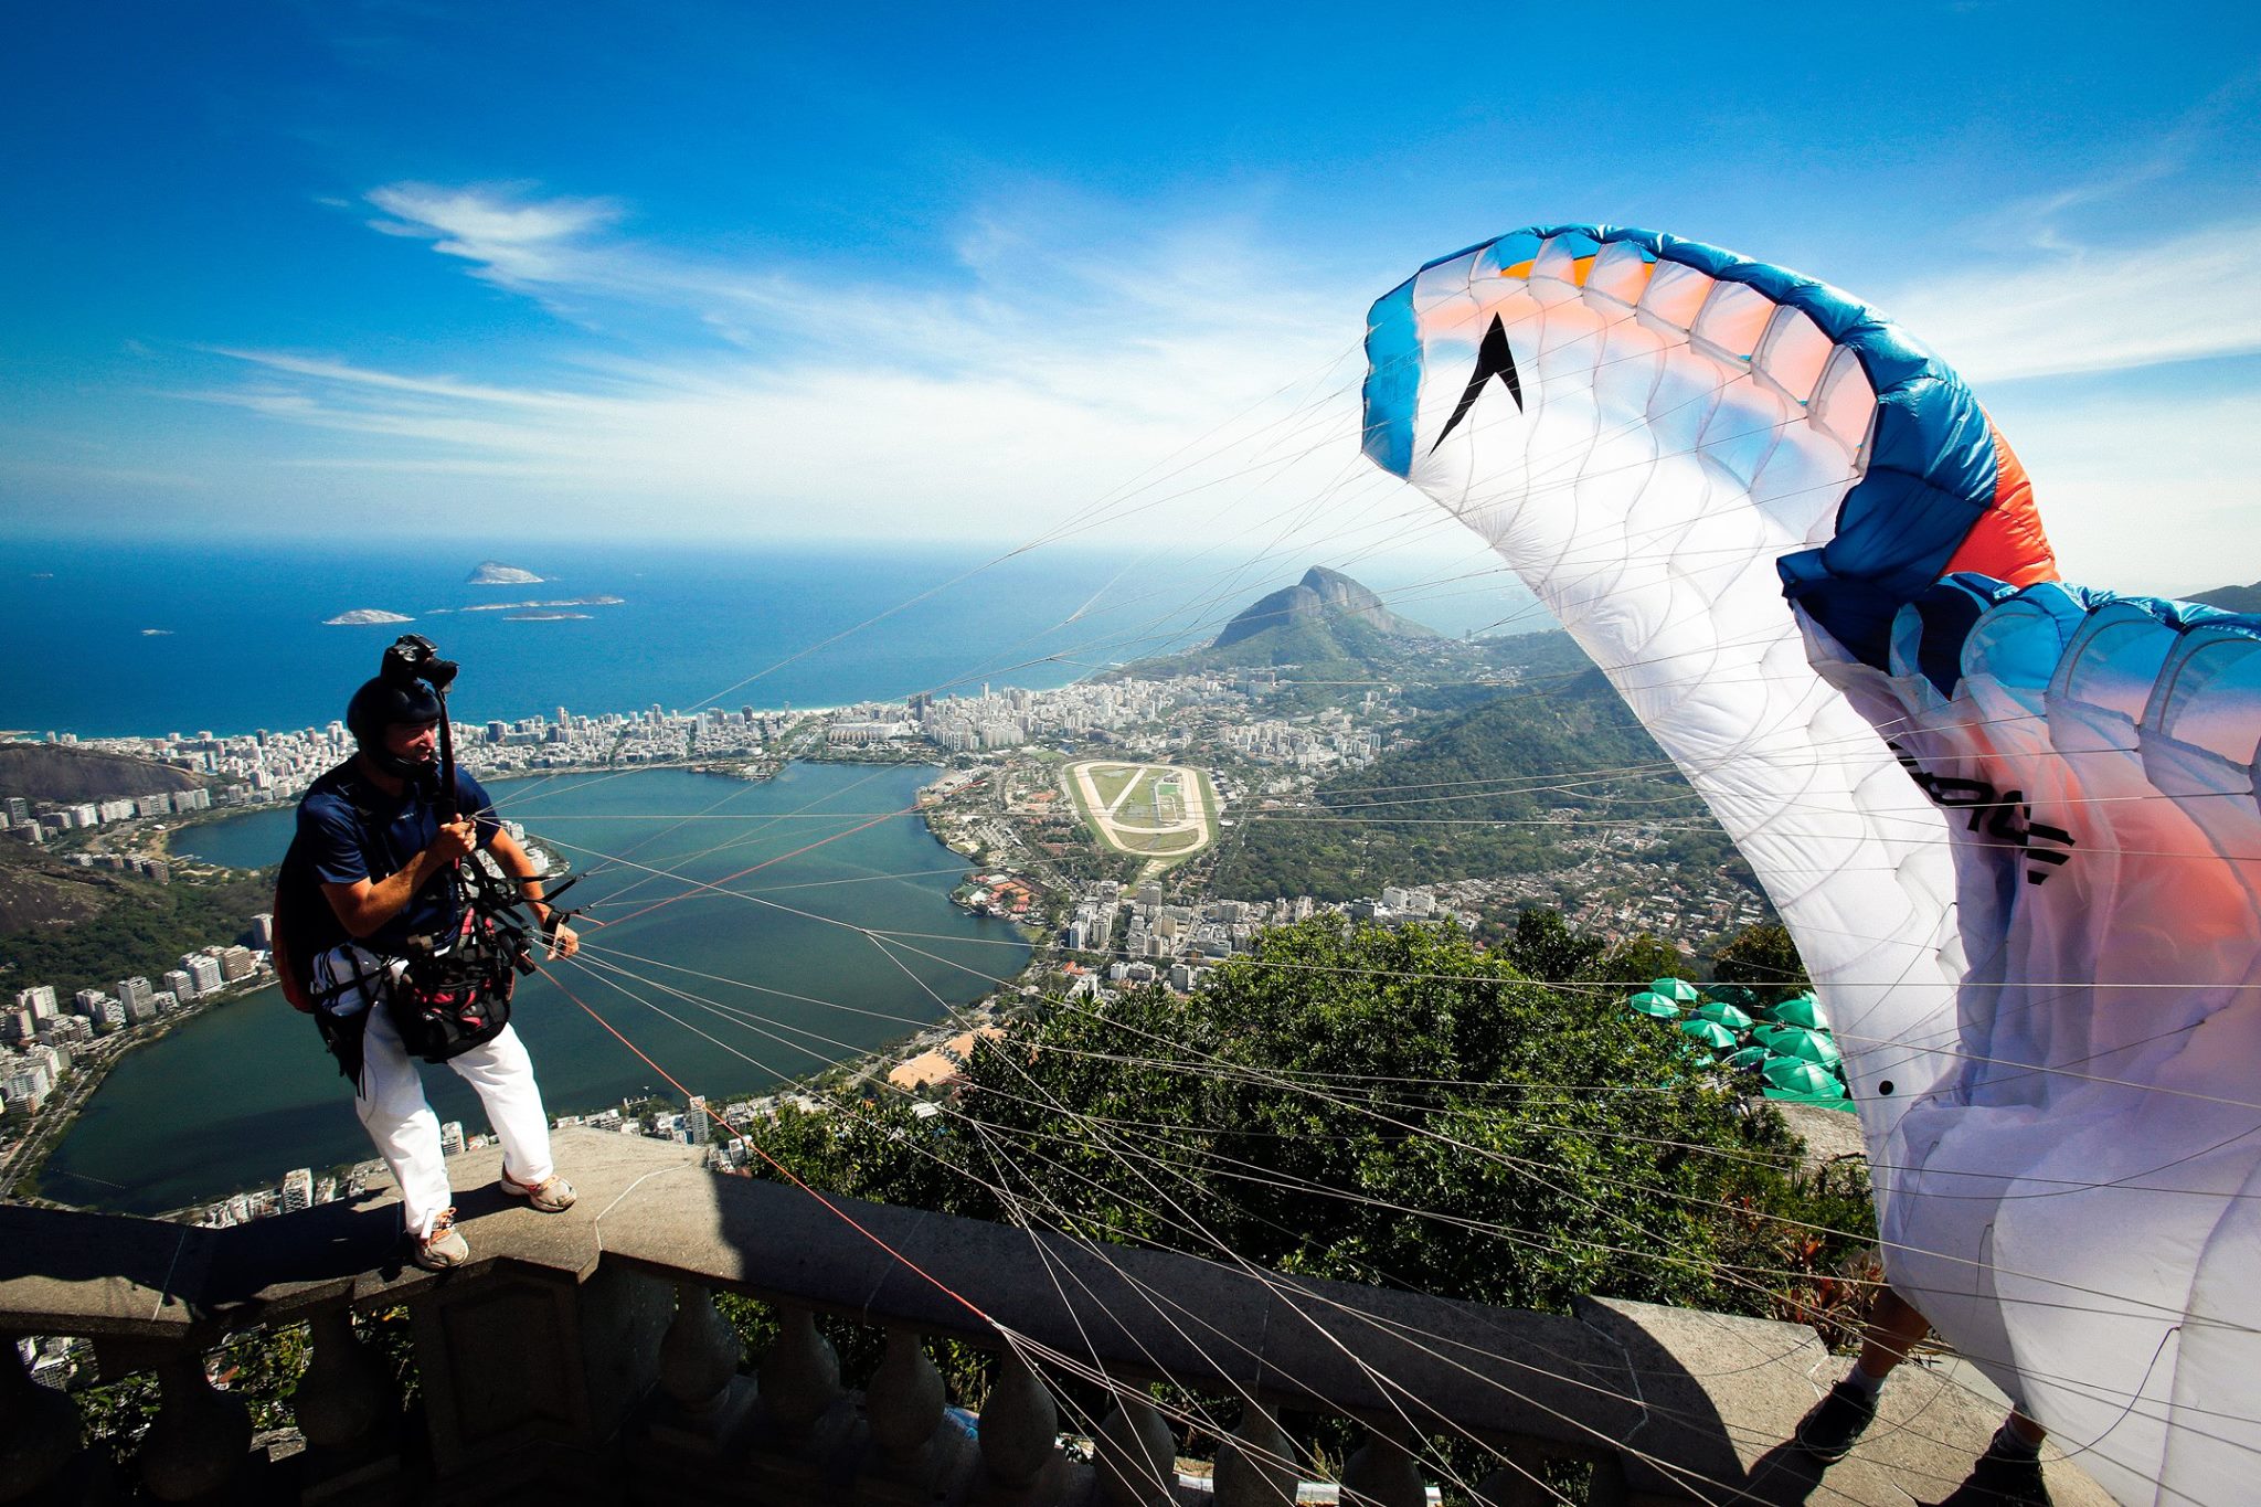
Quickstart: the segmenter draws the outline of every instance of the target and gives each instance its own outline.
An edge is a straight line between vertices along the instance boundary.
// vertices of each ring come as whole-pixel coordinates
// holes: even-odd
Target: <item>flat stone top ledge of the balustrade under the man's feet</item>
[[[620,1288],[574,1304],[595,1315],[577,1317],[590,1344],[624,1351],[624,1380],[606,1380],[597,1410],[617,1412],[647,1385],[638,1378],[665,1329],[667,1304],[651,1295],[692,1281],[981,1347],[999,1344],[986,1317],[995,1315],[1133,1380],[1171,1378],[1309,1412],[1409,1412],[1433,1432],[1621,1460],[1630,1502],[1940,1500],[2001,1419],[1996,1396],[1902,1367],[1870,1437],[1822,1482],[1786,1439],[1845,1362],[1802,1326],[1608,1299],[1574,1315],[1492,1308],[1171,1252],[1094,1249],[859,1200],[821,1204],[789,1184],[714,1177],[692,1148],[633,1136],[565,1130],[556,1150],[581,1195],[558,1216],[500,1193],[500,1152],[450,1159],[473,1263],[445,1274],[405,1263],[389,1188],[224,1231],[0,1207],[0,1329],[97,1335],[149,1353],[341,1301],[416,1299],[418,1322],[434,1335],[448,1329],[434,1344],[450,1349],[461,1340],[454,1329],[470,1333],[506,1297],[538,1308]],[[497,1333],[522,1333],[522,1322]],[[473,1349],[452,1362],[477,1380],[500,1351]],[[583,1378],[574,1385],[604,1380],[604,1356],[577,1358],[574,1367],[552,1358],[549,1369],[574,1371]],[[511,1408],[531,1408],[484,1392],[473,1401],[486,1412],[466,1417],[497,1437],[516,1426]],[[2071,1466],[2051,1469],[2051,1489],[2067,1507],[2110,1500]]]

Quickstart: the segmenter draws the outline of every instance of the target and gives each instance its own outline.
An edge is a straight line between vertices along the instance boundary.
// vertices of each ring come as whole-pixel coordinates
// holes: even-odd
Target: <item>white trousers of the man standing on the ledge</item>
[[[359,967],[355,967],[359,965]],[[337,947],[314,960],[317,981],[323,987],[344,985],[332,1014],[355,1014],[366,1010],[369,1028],[362,1033],[362,1082],[355,1084],[353,1109],[362,1116],[384,1166],[400,1184],[400,1218],[418,1240],[432,1234],[434,1220],[454,1204],[448,1188],[448,1159],[439,1148],[439,1116],[423,1096],[423,1073],[416,1057],[400,1046],[400,1030],[382,1005],[373,1003],[359,976],[371,981],[398,972],[405,965],[362,951],[359,947]],[[525,1184],[538,1184],[556,1166],[549,1161],[549,1116],[543,1112],[543,1091],[534,1082],[534,1060],[516,1026],[504,1026],[493,1042],[482,1042],[468,1053],[448,1060],[457,1078],[479,1091],[486,1107],[486,1123],[502,1141],[502,1170]]]

